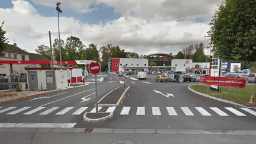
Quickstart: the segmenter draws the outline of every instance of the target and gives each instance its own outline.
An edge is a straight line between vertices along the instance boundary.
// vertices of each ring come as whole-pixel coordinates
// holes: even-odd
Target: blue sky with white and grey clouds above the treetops
[[[191,44],[208,45],[204,36],[222,0],[1,0],[9,44],[36,53],[49,46],[49,31],[58,39],[56,2],[62,40],[75,36],[87,47],[109,43],[139,55],[176,55]]]

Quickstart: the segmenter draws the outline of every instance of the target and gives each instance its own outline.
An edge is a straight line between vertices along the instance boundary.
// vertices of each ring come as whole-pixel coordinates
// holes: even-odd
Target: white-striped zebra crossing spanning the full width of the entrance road
[[[98,107],[98,111],[101,112],[114,112],[116,115],[137,115],[137,116],[145,116],[146,114],[151,114],[153,116],[161,116],[168,114],[169,116],[249,116],[253,115],[256,116],[256,108],[233,108],[233,107],[209,107],[206,108],[208,111],[203,107],[136,107],[136,113],[130,112],[132,107]],[[135,108],[133,108],[135,110]],[[181,110],[181,111],[180,111]],[[179,111],[179,113],[177,113]],[[69,112],[69,113],[68,113]],[[47,114],[55,114],[55,115],[64,115],[64,114],[71,114],[71,115],[80,115],[84,114],[85,112],[96,113],[95,107],[0,107],[0,114],[7,114],[7,115],[14,115],[14,114],[23,114],[23,115],[31,115],[31,114],[38,114],[38,115],[47,115]],[[197,113],[199,112],[199,113]]]

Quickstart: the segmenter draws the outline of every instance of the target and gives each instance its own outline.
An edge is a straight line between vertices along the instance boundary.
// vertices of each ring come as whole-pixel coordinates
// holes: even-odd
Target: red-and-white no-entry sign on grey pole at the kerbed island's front
[[[101,66],[98,62],[91,62],[88,66],[89,71],[95,75],[95,95],[96,95],[96,115],[98,115],[98,94],[97,94],[97,74],[100,72]]]

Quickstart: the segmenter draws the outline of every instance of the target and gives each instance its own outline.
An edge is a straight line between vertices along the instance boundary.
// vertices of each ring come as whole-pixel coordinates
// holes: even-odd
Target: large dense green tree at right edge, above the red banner
[[[213,15],[212,27],[207,32],[213,46],[212,52],[227,60],[255,62],[255,15],[256,0],[223,1]]]

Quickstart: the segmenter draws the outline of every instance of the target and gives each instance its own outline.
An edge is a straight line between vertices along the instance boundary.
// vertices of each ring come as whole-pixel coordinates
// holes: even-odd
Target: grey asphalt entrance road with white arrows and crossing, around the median
[[[195,82],[155,82],[156,75],[126,77],[130,89],[111,119],[88,123],[82,118],[94,109],[95,84],[0,104],[0,123],[72,123],[73,127],[111,129],[256,130],[255,108],[248,113],[236,105],[202,97],[188,90]],[[98,98],[122,86],[123,77],[103,73]],[[158,93],[157,93],[158,92]],[[172,96],[173,95],[173,96]],[[12,108],[12,109],[7,109]],[[107,111],[102,107],[100,111]]]

